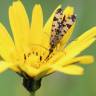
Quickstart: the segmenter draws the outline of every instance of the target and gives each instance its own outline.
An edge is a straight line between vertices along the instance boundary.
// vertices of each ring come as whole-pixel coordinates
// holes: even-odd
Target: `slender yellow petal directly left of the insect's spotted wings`
[[[43,29],[43,38],[42,38],[42,44],[45,48],[50,47],[50,36],[51,36],[51,28],[52,28],[52,23],[53,23],[53,18],[55,15],[55,12],[57,11],[58,8],[61,8],[61,5],[59,5],[52,13],[51,17],[48,19],[46,22],[44,29]]]

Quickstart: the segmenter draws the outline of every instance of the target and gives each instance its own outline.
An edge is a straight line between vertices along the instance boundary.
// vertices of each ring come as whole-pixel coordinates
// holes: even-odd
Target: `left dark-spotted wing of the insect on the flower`
[[[58,36],[62,30],[62,17],[63,11],[62,9],[58,9],[53,18],[53,24],[51,29],[51,38],[50,38],[50,49],[55,48],[57,41],[59,40]]]

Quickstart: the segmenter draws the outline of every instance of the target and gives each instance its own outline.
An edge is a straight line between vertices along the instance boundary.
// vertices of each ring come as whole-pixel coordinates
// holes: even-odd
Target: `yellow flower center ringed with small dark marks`
[[[44,64],[48,53],[48,50],[41,46],[32,46],[30,51],[24,54],[24,64],[38,69]]]

